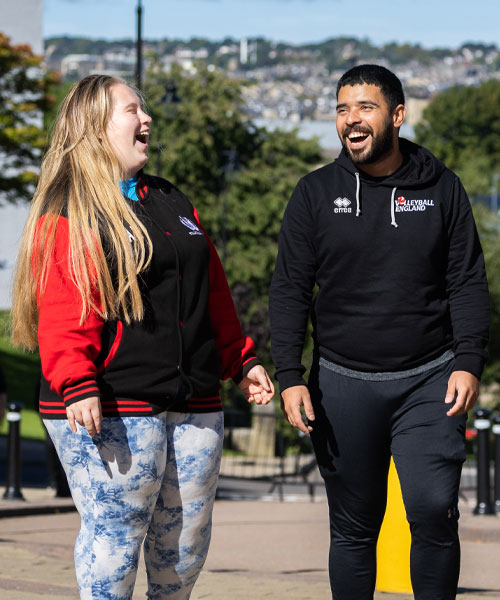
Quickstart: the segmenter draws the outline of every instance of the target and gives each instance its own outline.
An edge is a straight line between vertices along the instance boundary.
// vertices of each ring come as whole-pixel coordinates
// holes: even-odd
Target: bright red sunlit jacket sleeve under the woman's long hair
[[[100,395],[95,360],[103,322],[91,312],[80,324],[82,301],[70,275],[68,221],[59,217],[55,226],[55,249],[38,299],[38,345],[44,377],[68,406]]]

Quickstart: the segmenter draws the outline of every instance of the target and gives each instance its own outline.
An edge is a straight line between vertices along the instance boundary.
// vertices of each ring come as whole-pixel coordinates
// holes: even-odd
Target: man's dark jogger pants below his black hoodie
[[[466,415],[446,415],[453,367],[451,360],[403,379],[366,381],[315,362],[311,438],[330,510],[333,600],[373,598],[391,454],[410,523],[415,600],[455,599]]]

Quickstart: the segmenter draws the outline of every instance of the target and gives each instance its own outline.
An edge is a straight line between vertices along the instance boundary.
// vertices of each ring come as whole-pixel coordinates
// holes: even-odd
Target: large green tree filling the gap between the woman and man
[[[220,72],[172,69],[168,79],[180,98],[175,106],[165,102],[159,68],[145,85],[156,136],[149,171],[161,172],[197,207],[225,263],[243,329],[267,362],[267,297],[281,218],[298,179],[321,161],[319,145],[296,132],[255,127],[242,109],[241,84]]]

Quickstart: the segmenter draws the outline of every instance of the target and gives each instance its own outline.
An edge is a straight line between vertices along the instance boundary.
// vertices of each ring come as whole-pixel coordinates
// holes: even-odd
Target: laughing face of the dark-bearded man
[[[337,133],[358,165],[371,165],[397,152],[398,131],[387,100],[376,85],[345,85],[337,98]]]

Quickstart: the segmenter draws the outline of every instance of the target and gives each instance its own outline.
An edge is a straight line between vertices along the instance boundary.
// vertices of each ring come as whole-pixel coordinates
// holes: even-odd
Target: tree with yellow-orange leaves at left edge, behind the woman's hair
[[[11,202],[31,197],[46,142],[41,114],[54,78],[42,73],[41,61],[29,46],[13,46],[0,33],[0,197]]]

